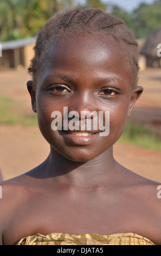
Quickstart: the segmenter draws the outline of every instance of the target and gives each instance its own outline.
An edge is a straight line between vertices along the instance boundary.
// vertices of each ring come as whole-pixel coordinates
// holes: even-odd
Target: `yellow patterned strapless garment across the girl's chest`
[[[27,236],[15,245],[154,245],[154,243],[134,233],[113,235],[51,233]]]

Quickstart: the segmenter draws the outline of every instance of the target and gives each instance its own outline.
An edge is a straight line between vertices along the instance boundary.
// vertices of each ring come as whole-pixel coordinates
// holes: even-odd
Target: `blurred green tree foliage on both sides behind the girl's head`
[[[81,4],[81,0],[0,0],[0,41],[34,36],[56,11]],[[131,13],[101,0],[84,0],[82,7],[100,8],[124,19],[137,38],[147,37],[161,26],[161,0],[140,4]]]

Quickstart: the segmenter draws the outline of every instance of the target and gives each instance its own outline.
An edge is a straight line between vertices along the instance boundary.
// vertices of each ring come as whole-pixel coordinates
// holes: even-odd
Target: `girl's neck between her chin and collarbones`
[[[71,185],[96,186],[105,182],[105,177],[111,177],[116,170],[116,163],[112,148],[88,162],[70,161],[51,148],[45,161],[45,169],[48,177],[54,177],[57,181]]]

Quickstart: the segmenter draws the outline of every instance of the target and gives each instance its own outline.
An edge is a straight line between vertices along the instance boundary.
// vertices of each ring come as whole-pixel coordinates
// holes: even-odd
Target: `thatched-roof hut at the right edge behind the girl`
[[[158,44],[161,44],[161,26],[154,31],[149,38],[145,41],[143,48],[140,51],[140,54],[146,56],[147,66],[153,66],[154,68],[161,68],[161,58],[158,57]]]

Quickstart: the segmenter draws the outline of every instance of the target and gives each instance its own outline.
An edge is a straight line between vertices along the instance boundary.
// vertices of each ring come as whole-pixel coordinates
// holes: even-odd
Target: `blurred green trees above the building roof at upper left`
[[[75,0],[0,0],[0,41],[36,35],[56,11],[75,5]]]

